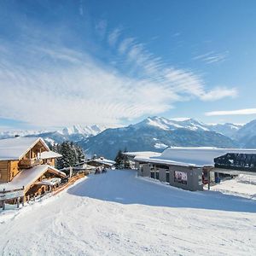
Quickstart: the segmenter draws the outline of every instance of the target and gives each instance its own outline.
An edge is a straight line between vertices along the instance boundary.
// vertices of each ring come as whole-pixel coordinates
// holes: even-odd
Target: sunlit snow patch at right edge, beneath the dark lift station
[[[211,189],[256,200],[256,176],[240,174],[236,178],[221,181]]]

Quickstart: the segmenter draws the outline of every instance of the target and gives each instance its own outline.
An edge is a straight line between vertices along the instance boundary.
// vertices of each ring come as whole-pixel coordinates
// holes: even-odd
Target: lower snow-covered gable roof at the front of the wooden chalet
[[[66,173],[55,169],[48,165],[34,166],[30,169],[21,170],[11,182],[0,184],[0,191],[11,190],[11,189],[21,189],[23,186],[25,190],[29,189],[32,183],[35,183],[39,177],[41,177],[44,172],[52,172],[60,177],[66,177]]]

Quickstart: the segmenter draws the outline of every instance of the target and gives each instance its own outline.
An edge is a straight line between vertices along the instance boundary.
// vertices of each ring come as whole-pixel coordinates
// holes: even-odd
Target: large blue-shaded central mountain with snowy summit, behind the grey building
[[[127,127],[107,129],[79,144],[88,154],[104,154],[113,159],[119,149],[129,151],[163,151],[169,146],[236,148],[233,140],[240,125],[207,125],[195,119],[177,121],[148,117]],[[228,134],[229,136],[225,135]]]

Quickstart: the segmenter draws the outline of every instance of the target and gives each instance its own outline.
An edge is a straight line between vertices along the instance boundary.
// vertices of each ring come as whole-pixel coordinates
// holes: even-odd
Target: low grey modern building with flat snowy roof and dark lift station
[[[137,174],[191,191],[202,190],[203,184],[215,182],[218,173],[256,175],[251,163],[234,166],[234,158],[254,159],[256,149],[239,148],[166,148],[155,152],[124,153],[136,162]],[[255,158],[256,160],[256,158]],[[230,164],[229,164],[230,163]],[[241,164],[240,164],[241,165]]]

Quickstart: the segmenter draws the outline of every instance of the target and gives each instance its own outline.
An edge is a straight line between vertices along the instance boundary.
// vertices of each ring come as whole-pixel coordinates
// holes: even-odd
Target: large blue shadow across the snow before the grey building
[[[108,171],[107,174],[90,175],[67,192],[121,204],[256,212],[256,201],[214,191],[177,189],[137,178],[134,171]]]

